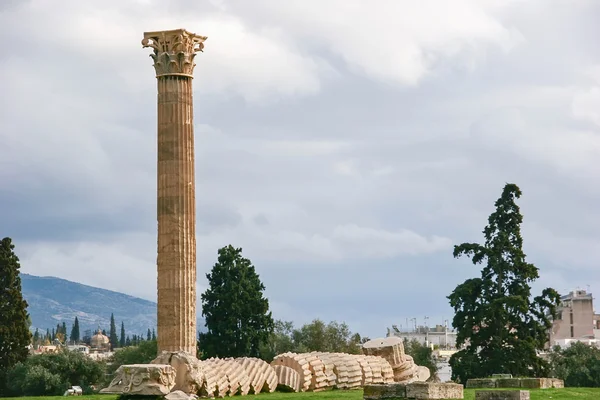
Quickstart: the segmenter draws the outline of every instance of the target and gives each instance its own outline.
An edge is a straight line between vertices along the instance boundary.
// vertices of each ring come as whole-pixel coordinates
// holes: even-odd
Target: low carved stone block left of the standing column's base
[[[166,364],[121,365],[100,393],[162,396],[175,386],[175,370]]]

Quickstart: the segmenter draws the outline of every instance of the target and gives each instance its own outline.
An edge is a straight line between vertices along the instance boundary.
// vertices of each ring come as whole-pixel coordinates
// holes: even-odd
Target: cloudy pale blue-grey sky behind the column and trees
[[[198,297],[220,247],[299,326],[451,319],[507,182],[534,293],[600,291],[600,2],[0,2],[0,236],[22,271],[156,299],[156,79],[196,57]],[[600,307],[598,307],[600,308]],[[409,322],[410,323],[410,322]]]

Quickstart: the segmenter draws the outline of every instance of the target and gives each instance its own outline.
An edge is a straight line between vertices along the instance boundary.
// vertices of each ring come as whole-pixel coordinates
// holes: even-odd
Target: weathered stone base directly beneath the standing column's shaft
[[[197,394],[204,384],[201,362],[186,352],[169,353],[164,351],[152,360],[152,364],[168,364],[173,367],[175,370],[174,391]]]

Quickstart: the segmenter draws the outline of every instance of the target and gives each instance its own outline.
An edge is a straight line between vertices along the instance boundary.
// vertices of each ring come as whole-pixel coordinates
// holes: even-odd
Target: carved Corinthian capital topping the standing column
[[[142,47],[151,47],[154,52],[156,77],[179,75],[193,77],[194,57],[204,48],[206,36],[199,36],[185,29],[172,31],[144,32]]]

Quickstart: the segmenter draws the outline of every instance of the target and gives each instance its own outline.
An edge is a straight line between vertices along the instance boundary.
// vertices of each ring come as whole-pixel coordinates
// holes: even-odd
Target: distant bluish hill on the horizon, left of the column
[[[115,315],[117,334],[121,321],[127,335],[145,336],[148,328],[156,329],[155,302],[50,276],[21,274],[21,284],[32,330],[52,330],[64,321],[70,333],[77,316],[82,336],[98,326],[108,332],[111,313]],[[198,318],[197,322],[199,330],[204,331],[204,320]]]

